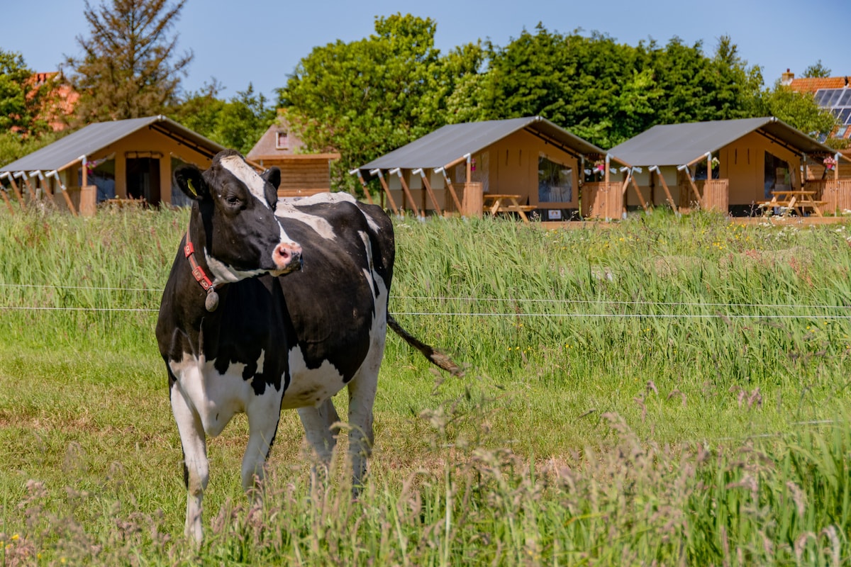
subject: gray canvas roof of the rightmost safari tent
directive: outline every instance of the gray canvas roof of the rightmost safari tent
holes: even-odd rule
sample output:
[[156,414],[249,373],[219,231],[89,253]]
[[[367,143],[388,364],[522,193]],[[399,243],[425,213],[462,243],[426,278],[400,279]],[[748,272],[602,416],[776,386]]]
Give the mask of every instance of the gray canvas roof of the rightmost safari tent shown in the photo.
[[654,126],[614,146],[608,153],[634,166],[681,166],[756,130],[793,150],[807,154],[834,153],[830,147],[773,116]]

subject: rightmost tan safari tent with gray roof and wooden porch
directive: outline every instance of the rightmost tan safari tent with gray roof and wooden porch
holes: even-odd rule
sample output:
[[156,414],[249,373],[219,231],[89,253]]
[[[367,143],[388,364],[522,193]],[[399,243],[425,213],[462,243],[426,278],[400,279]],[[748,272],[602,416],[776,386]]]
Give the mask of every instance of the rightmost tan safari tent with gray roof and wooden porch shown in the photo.
[[813,196],[808,213],[851,208],[851,179],[840,179],[835,150],[774,117],[654,126],[609,153],[631,164],[623,181],[640,198],[680,212],[696,206],[734,216],[761,214],[785,192]]

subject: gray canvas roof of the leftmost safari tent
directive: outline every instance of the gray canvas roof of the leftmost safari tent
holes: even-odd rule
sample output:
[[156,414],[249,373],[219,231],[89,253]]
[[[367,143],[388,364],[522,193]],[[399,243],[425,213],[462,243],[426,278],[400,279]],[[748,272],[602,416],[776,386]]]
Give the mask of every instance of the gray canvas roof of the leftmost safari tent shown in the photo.
[[146,118],[130,118],[113,122],[96,122],[89,124],[65,138],[44,146],[31,154],[0,167],[0,172],[18,171],[53,171],[77,162],[81,156],[92,156],[106,146],[123,139],[142,128],[151,128],[169,138],[177,139],[205,156],[214,156],[224,146],[204,138],[201,134],[192,132],[189,128],[180,126],[177,122],[165,116],[148,116]]

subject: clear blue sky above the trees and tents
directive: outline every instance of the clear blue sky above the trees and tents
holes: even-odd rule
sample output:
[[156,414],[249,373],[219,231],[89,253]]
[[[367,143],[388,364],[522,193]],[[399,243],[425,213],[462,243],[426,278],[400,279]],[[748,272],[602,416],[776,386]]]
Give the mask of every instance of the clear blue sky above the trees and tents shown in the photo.
[[[64,55],[78,54],[75,38],[89,33],[83,9],[83,0],[0,0],[0,49],[22,54],[35,71],[54,71]],[[188,0],[173,29],[180,50],[195,54],[184,88],[196,90],[215,77],[225,85],[225,97],[250,82],[274,100],[275,89],[311,48],[367,37],[376,15],[397,12],[437,21],[442,53],[477,39],[504,46],[542,22],[550,31],[602,31],[629,45],[649,38],[664,45],[674,36],[688,44],[702,40],[706,54],[726,34],[749,65],[762,66],[768,86],[786,68],[800,77],[818,60],[834,76],[851,75],[851,62],[842,55],[848,0]]]

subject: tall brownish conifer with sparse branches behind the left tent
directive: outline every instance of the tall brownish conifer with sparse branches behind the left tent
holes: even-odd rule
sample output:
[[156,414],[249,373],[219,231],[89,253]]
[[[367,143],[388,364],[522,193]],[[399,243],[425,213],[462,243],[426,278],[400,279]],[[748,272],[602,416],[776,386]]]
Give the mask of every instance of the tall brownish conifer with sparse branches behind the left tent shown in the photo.
[[77,36],[79,59],[66,57],[80,122],[156,115],[177,101],[193,55],[176,54],[178,35],[168,37],[186,0],[167,2],[111,0],[93,8],[86,0],[90,37]]

